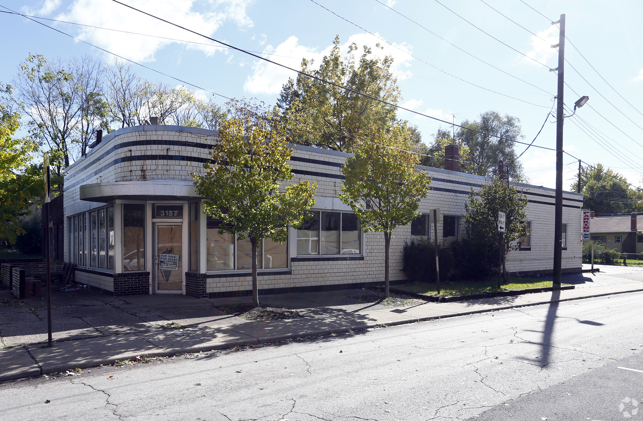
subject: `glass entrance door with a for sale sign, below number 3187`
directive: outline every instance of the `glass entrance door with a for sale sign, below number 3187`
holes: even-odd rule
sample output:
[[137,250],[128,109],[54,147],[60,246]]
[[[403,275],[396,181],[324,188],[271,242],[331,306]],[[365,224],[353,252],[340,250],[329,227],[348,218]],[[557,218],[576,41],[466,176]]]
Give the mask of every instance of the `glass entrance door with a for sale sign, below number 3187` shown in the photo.
[[182,292],[181,224],[156,224],[156,292]]

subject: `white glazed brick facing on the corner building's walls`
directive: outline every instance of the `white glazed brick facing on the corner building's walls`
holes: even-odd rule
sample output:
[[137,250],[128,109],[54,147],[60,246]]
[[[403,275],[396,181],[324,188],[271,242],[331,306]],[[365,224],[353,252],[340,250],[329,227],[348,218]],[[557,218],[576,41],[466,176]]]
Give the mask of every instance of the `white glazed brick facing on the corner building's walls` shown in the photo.
[[[156,128],[156,130],[152,130]],[[91,167],[83,169],[80,173],[79,169],[85,167],[89,162],[92,162],[98,156],[108,151],[116,144],[123,142],[131,142],[135,140],[182,140],[185,142],[198,142],[212,144],[217,139],[217,136],[210,134],[189,133],[188,131],[178,131],[176,126],[146,126],[145,131],[131,131],[130,133],[116,133],[113,138],[104,140],[102,144],[98,145],[91,154],[87,155],[82,160],[79,160],[71,167],[68,168],[68,178],[65,180],[66,186],[77,183],[89,174],[94,173],[100,167],[113,162],[117,158],[125,158],[131,155],[141,154],[169,154],[169,155],[182,155],[194,156],[198,158],[209,158],[208,149],[192,146],[177,146],[177,145],[132,145],[116,149],[100,159],[100,161],[91,165]],[[187,129],[187,128],[183,128]],[[167,149],[169,148],[169,149]],[[306,158],[310,160],[320,160],[324,162],[334,162],[343,164],[348,154],[333,153],[324,149],[311,148],[311,147],[295,147],[293,156],[298,158]],[[71,207],[78,203],[78,192],[80,185],[97,183],[97,182],[118,182],[125,180],[142,180],[143,171],[145,172],[145,182],[154,183],[154,178],[164,179],[181,179],[192,180],[191,171],[203,171],[201,163],[191,162],[190,166],[186,166],[185,161],[136,161],[136,162],[121,162],[114,164],[105,169],[100,174],[95,174],[91,178],[77,183],[71,189],[66,188],[64,205],[65,208]],[[330,173],[341,174],[340,167],[332,167],[328,165],[310,164],[307,162],[291,161],[293,169],[300,171],[312,171],[316,173]],[[426,168],[429,174],[434,179],[431,182],[431,187],[438,189],[457,190],[461,192],[469,192],[471,187],[466,183],[484,184],[489,183],[490,180],[485,180],[470,174],[455,173],[451,171],[436,170]],[[72,175],[73,174],[73,175]],[[460,182],[464,184],[444,182],[436,180],[438,178]],[[338,197],[338,191],[341,189],[341,180],[338,178],[326,178],[309,176],[302,174],[294,174],[291,183],[297,183],[302,180],[309,182],[317,182],[318,187],[316,196],[322,197]],[[474,188],[478,191],[478,187]],[[527,195],[529,200],[545,201],[554,203],[554,191],[552,189],[539,189],[537,186],[519,187],[528,192],[535,192],[543,194],[547,197]],[[564,192],[563,197],[567,200],[564,201],[565,205],[573,205],[575,208],[563,207],[563,221],[567,225],[567,250],[563,250],[563,269],[565,268],[580,268],[581,267],[581,214],[580,202],[569,201],[569,199],[578,199],[579,196]],[[469,200],[468,194],[459,194],[453,192],[444,192],[431,190],[428,196],[421,200],[419,212],[429,213],[431,209],[439,207],[442,214],[451,215],[464,215],[465,204]],[[95,207],[102,205],[96,203]],[[507,256],[507,269],[511,272],[523,271],[538,271],[548,270],[553,263],[553,238],[554,238],[554,206],[545,205],[541,203],[528,203],[527,216],[532,221],[532,237],[531,237],[531,250],[530,251],[514,251]],[[67,213],[67,212],[66,212]],[[69,216],[67,214],[66,216]],[[431,224],[431,232],[433,224]],[[438,232],[442,230],[442,224],[438,224]],[[67,233],[67,229],[65,229]],[[460,218],[460,234],[464,233],[464,218]],[[404,273],[401,271],[402,263],[402,247],[405,241],[410,241],[410,226],[398,227],[393,232],[394,238],[391,243],[390,250],[390,279],[405,279]],[[371,281],[383,281],[384,279],[384,240],[381,233],[369,233],[365,236],[365,260],[363,261],[300,261],[291,263],[291,275],[280,276],[264,276],[259,277],[259,285],[261,288],[284,288],[291,286],[314,286],[314,285],[333,285],[341,283],[359,283]],[[439,237],[440,239],[440,237]],[[67,251],[67,250],[66,250]],[[93,275],[87,275],[87,281],[90,282]],[[94,279],[94,278],[92,278]],[[98,281],[95,281],[98,282]],[[100,281],[104,284],[105,280]],[[208,279],[207,292],[222,292],[231,290],[248,289],[251,285],[249,277],[227,277],[227,278],[214,278]],[[98,285],[96,285],[98,286]],[[101,286],[101,288],[103,288]],[[111,290],[111,288],[105,288]]]

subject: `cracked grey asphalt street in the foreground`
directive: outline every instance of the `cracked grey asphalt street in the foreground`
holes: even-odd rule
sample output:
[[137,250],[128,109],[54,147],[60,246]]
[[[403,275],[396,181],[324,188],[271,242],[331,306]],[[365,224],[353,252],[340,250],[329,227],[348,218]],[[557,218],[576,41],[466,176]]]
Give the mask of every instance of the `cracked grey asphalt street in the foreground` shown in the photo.
[[610,295],[8,382],[0,386],[0,414],[38,421],[640,420],[642,304],[643,293]]

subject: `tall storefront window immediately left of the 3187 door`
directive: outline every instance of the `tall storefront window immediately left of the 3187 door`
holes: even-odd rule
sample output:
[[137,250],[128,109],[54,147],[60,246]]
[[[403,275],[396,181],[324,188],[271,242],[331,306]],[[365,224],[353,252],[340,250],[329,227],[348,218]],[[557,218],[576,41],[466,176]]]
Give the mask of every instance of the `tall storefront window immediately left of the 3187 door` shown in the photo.
[[145,205],[123,204],[123,272],[145,270]]

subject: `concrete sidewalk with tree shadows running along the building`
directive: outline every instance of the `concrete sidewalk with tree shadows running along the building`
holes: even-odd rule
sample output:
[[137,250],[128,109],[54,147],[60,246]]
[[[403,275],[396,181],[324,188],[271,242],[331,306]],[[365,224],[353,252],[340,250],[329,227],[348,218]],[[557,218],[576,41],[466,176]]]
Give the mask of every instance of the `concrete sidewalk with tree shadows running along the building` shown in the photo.
[[[609,270],[606,267],[601,270]],[[618,268],[618,267],[617,267]],[[643,291],[643,269],[615,269],[611,275],[566,276],[577,289],[460,301],[400,306],[377,303],[377,292],[343,290],[305,294],[262,295],[260,301],[289,308],[298,317],[248,321],[226,314],[226,306],[249,303],[249,297],[194,299],[185,295],[112,297],[83,290],[53,292],[53,339],[44,348],[44,300],[18,303],[0,291],[0,380],[112,364],[137,355],[168,356],[282,341],[297,337],[363,330],[376,326],[554,303],[571,299]],[[624,268],[627,269],[627,268]],[[578,288],[583,285],[597,285]],[[12,305],[15,304],[15,305]],[[180,327],[177,327],[179,326]]]

